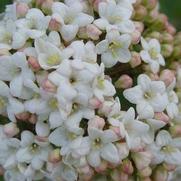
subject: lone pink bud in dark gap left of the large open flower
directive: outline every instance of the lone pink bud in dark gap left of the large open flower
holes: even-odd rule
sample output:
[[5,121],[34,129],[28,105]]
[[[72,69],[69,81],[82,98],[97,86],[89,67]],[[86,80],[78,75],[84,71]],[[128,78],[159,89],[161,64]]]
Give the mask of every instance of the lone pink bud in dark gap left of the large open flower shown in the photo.
[[115,87],[118,89],[127,89],[133,85],[133,79],[129,75],[121,75],[121,77],[115,82]]

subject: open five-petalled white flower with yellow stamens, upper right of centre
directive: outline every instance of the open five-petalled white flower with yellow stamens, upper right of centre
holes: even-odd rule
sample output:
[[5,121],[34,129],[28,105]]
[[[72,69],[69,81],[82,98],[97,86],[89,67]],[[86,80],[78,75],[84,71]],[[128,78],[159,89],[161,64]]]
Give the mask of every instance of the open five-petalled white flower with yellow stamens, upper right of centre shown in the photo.
[[131,60],[130,44],[130,35],[120,35],[119,32],[111,30],[106,39],[96,45],[96,51],[101,54],[105,67],[113,67],[117,62],[127,63]]

